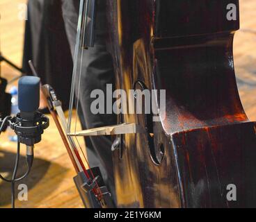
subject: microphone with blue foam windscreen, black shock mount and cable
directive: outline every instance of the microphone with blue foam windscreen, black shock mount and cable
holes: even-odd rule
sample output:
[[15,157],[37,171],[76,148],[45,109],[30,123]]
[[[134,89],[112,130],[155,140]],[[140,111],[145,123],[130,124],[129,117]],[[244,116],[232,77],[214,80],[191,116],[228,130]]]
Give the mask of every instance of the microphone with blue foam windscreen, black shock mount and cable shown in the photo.
[[[4,128],[10,126],[17,134],[17,157],[15,169],[11,180],[0,178],[12,185],[12,206],[15,206],[15,182],[26,178],[31,171],[33,164],[33,148],[42,139],[42,133],[49,127],[49,118],[38,112],[40,100],[40,78],[34,76],[24,76],[19,79],[18,83],[18,107],[20,112],[16,117],[7,116],[0,119],[0,134]],[[16,178],[17,168],[19,165],[19,145],[26,145],[26,162],[28,169],[24,176]]]

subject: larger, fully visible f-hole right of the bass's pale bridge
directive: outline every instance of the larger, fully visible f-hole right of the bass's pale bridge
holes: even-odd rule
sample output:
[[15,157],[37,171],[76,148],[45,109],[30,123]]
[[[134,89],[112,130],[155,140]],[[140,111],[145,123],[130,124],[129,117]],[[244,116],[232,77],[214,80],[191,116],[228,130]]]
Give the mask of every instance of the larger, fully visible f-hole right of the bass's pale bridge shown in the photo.
[[[145,83],[143,83],[141,80],[138,80],[134,83],[134,91],[136,92],[136,89],[140,89],[142,92],[143,90],[147,89]],[[151,95],[152,96],[152,95]],[[155,146],[155,134],[154,134],[154,121],[153,121],[153,112],[152,112],[152,103],[151,103],[151,96],[150,96],[150,113],[145,114],[145,109],[143,110],[143,114],[145,116],[145,131],[147,135],[147,144],[150,151],[150,157],[154,164],[161,164],[161,161],[163,160],[163,154],[164,154],[164,147],[163,144],[157,144]],[[136,94],[134,95],[136,99]],[[149,102],[149,101],[146,101]],[[145,104],[145,96],[143,96],[142,103]],[[157,155],[159,153],[159,155]]]

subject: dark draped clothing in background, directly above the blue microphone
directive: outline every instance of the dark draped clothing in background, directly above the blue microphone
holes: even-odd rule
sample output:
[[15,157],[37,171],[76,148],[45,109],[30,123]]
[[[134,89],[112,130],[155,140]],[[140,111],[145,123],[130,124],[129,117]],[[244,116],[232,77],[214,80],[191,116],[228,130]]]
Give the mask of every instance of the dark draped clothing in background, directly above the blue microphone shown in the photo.
[[67,110],[73,62],[61,0],[29,0],[23,57],[23,69],[27,74],[31,74],[29,60],[33,61],[42,84],[54,87],[63,109]]

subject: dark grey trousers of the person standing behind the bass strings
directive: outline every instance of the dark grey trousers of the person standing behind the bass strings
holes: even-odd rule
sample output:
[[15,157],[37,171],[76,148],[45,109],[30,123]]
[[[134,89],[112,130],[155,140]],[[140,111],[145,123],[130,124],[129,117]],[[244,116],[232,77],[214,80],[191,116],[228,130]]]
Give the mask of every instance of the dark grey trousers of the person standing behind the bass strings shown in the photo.
[[[77,21],[79,15],[79,0],[62,0],[63,18],[67,37],[70,41],[72,56],[77,36]],[[83,53],[83,72],[79,91],[79,116],[83,129],[99,126],[111,126],[116,123],[113,114],[93,114],[90,98],[93,89],[102,89],[106,94],[106,84],[114,86],[113,62],[106,51],[106,1],[97,1],[97,15],[95,25],[95,46]],[[76,83],[79,87],[79,83]],[[113,87],[114,88],[114,87]],[[76,95],[78,96],[78,95]],[[86,139],[88,161],[91,167],[100,167],[104,180],[107,181],[111,193],[115,197],[113,179],[113,165],[111,157],[110,137],[89,137]]]

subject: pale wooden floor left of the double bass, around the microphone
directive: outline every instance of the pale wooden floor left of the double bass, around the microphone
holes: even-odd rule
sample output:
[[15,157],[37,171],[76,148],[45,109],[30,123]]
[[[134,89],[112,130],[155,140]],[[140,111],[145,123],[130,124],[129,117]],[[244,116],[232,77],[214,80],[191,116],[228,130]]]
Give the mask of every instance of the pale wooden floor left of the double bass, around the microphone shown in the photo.
[[[26,0],[0,0],[1,52],[9,60],[21,66],[24,41],[24,21],[18,19],[19,3]],[[8,65],[2,64],[2,76],[9,80],[17,76]],[[16,84],[16,83],[15,83]],[[61,137],[50,119],[51,125],[45,131],[42,142],[35,146],[35,160],[29,178],[19,183],[29,187],[29,200],[16,200],[16,207],[83,207],[72,178],[75,171],[61,142]],[[10,172],[15,161],[16,145],[8,142],[8,134],[0,138],[0,173]],[[24,148],[22,148],[24,151]],[[21,172],[24,172],[24,152]],[[8,176],[8,173],[3,173]],[[0,207],[10,207],[10,185],[0,180]]]

